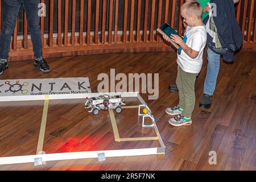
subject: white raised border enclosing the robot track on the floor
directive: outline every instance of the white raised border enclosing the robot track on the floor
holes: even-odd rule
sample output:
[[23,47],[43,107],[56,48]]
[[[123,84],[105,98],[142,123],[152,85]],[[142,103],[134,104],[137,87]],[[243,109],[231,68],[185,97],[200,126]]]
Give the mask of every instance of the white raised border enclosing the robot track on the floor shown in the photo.
[[[63,100],[63,99],[86,99],[86,97],[97,97],[104,94],[109,96],[121,95],[122,97],[137,97],[142,104],[147,105],[138,92],[122,92],[122,93],[84,93],[84,94],[56,94],[49,95],[49,100]],[[38,101],[45,100],[45,95],[37,96],[4,96],[0,97],[0,102],[10,101]],[[43,162],[53,160],[71,160],[71,159],[88,159],[99,158],[99,154],[104,153],[105,158],[121,157],[121,156],[139,156],[139,155],[154,155],[165,154],[166,147],[160,137],[158,128],[154,125],[156,134],[158,135],[161,147],[154,148],[134,148],[127,150],[103,150],[103,151],[83,151],[83,152],[65,152],[55,154],[40,154],[40,155],[24,155],[24,156],[9,156],[0,158],[0,165],[3,164],[20,164],[20,163],[34,163],[41,165]]]

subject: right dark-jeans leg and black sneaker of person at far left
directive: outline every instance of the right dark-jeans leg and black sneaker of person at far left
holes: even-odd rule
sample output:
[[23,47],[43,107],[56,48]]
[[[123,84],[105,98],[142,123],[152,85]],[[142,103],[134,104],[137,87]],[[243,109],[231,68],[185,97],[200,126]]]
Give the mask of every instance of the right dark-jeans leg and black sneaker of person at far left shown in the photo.
[[42,56],[42,36],[40,31],[40,0],[24,0],[24,9],[27,15],[28,29],[30,30],[31,40],[34,50],[34,66],[41,72],[49,72],[51,69]]

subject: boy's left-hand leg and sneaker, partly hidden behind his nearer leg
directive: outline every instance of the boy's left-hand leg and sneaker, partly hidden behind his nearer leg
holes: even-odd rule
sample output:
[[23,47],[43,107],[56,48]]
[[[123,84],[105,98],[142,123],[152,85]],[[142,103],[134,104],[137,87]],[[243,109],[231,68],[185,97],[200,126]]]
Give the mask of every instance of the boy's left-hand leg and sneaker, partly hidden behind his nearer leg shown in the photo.
[[179,86],[179,105],[174,107],[168,107],[166,109],[166,113],[169,115],[179,115],[183,112],[183,108],[185,105],[185,97],[183,95],[182,89],[182,82],[181,82],[181,75],[180,75],[181,68],[178,67],[177,77],[176,77],[176,84]]

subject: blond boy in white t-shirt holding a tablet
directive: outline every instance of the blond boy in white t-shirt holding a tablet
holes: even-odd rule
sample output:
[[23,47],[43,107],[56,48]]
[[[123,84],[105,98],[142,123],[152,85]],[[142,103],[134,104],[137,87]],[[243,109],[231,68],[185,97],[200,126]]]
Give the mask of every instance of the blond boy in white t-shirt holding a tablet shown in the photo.
[[[178,35],[171,35],[171,40],[179,44],[177,51],[177,78],[179,89],[179,105],[169,107],[166,113],[176,115],[169,123],[173,126],[191,125],[191,115],[195,107],[196,76],[203,65],[203,52],[207,41],[207,32],[201,20],[203,9],[199,2],[190,1],[181,7],[183,22],[187,24],[184,39]],[[168,41],[167,36],[163,38]]]

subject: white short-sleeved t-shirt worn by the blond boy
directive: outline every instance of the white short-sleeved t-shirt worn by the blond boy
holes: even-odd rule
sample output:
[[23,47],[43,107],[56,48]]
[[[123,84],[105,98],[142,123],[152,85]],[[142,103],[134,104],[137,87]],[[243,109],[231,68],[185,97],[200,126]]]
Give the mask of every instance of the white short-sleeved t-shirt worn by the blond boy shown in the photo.
[[177,54],[177,64],[185,72],[199,73],[203,65],[203,53],[207,43],[207,31],[205,26],[188,26],[185,35],[187,36],[187,46],[195,51],[199,51],[199,55],[195,59],[192,59],[182,50],[180,55]]

